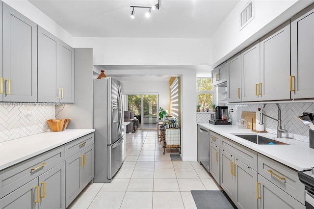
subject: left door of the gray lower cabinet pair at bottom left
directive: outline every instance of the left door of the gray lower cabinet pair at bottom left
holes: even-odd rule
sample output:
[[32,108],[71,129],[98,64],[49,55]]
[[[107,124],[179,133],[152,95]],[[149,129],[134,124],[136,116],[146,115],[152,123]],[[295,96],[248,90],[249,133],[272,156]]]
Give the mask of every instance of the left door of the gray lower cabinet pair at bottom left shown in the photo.
[[0,199],[1,209],[39,209],[40,201],[38,178],[26,183]]

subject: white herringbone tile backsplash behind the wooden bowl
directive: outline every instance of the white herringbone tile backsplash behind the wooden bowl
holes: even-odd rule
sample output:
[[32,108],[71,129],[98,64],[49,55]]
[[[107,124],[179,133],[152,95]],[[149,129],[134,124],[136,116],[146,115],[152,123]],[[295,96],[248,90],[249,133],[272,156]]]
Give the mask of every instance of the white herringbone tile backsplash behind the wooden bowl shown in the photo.
[[0,142],[42,133],[55,119],[54,105],[0,103]]

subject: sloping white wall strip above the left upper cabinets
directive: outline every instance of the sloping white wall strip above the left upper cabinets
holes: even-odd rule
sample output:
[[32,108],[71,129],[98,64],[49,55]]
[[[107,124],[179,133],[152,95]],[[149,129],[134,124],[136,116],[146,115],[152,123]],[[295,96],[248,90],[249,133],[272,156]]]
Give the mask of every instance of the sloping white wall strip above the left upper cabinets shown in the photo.
[[51,18],[45,15],[37,7],[31,4],[28,0],[2,0],[28,19],[39,26],[51,32],[53,35],[73,47],[73,36],[57,25]]

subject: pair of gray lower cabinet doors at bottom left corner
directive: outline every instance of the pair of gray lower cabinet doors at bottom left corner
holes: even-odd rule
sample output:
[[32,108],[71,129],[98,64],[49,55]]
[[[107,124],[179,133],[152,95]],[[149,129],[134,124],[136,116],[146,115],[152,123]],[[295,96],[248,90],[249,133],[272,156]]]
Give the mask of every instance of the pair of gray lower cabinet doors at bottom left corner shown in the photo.
[[0,199],[0,208],[64,209],[64,162]]

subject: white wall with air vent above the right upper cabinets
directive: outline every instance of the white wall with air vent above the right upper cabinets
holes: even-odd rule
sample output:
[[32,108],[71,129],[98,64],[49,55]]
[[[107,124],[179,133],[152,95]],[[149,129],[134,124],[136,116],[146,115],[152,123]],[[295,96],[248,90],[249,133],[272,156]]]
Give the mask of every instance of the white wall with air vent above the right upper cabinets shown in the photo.
[[255,0],[254,19],[240,30],[240,11],[248,0],[240,0],[211,37],[212,64],[218,65],[289,20],[313,0]]

